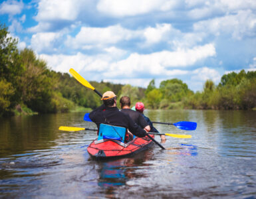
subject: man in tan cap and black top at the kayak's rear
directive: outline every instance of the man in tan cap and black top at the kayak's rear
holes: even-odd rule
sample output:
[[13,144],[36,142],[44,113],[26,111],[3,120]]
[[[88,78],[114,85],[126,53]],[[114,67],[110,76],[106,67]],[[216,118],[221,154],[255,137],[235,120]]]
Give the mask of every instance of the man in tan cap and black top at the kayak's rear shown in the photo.
[[[145,137],[147,135],[147,132],[137,125],[128,114],[118,110],[118,107],[116,107],[116,94],[114,92],[105,92],[101,100],[103,104],[89,114],[90,119],[96,123],[98,129],[100,128],[100,123],[104,123],[125,127],[137,137]],[[126,141],[131,139],[133,139],[133,135],[126,131]]]

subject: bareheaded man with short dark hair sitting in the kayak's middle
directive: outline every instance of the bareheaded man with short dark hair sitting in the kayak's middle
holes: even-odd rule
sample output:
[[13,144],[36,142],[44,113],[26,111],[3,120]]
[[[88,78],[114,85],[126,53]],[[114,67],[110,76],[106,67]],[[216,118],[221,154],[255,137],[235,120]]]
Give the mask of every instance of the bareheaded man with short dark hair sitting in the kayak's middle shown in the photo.
[[128,96],[122,96],[122,98],[120,98],[121,111],[123,113],[127,113],[132,118],[132,120],[135,121],[135,123],[137,123],[140,127],[142,127],[142,129],[149,132],[150,125],[148,125],[148,122],[146,121],[146,119],[139,112],[130,109],[130,105],[131,105],[131,101]]

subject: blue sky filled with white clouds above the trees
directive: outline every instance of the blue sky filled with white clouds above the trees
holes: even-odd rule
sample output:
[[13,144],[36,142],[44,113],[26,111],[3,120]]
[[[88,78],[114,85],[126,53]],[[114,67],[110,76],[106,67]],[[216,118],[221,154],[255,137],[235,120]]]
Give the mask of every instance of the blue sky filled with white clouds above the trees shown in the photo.
[[255,0],[0,0],[0,23],[20,50],[88,81],[178,78],[195,92],[256,70]]

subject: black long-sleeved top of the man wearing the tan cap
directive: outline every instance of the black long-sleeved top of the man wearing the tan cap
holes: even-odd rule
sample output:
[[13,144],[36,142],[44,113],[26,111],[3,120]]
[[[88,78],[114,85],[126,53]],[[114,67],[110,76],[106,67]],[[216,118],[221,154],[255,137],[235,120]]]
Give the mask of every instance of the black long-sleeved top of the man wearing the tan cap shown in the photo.
[[118,127],[125,127],[137,137],[146,136],[146,131],[137,125],[128,114],[119,111],[117,107],[106,107],[103,104],[90,112],[89,117],[96,123],[98,129],[100,123],[105,123]]

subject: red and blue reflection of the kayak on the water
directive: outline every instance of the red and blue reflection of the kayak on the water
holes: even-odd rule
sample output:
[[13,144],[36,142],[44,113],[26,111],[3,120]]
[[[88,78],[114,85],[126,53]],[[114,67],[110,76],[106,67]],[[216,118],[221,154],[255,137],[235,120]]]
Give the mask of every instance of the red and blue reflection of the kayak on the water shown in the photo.
[[152,155],[151,151],[144,151],[134,157],[102,162],[98,170],[98,186],[106,188],[106,194],[110,194],[114,187],[125,185],[132,178],[145,177],[146,172],[138,174],[136,170],[142,165],[149,166],[145,161],[150,160]]

